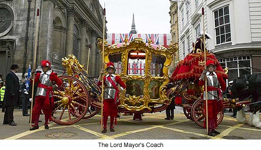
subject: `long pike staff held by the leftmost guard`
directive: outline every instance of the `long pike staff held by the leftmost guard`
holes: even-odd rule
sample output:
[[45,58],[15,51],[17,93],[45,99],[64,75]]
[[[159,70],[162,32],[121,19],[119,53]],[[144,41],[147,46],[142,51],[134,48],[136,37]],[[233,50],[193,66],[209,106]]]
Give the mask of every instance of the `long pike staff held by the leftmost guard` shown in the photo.
[[[36,51],[37,51],[37,41],[38,41],[38,26],[39,26],[39,14],[40,9],[37,8],[37,15],[36,15],[36,32],[35,32],[35,40],[34,40],[34,57],[33,57],[33,69],[36,68]],[[32,124],[32,109],[33,109],[33,93],[34,93],[34,74],[33,77],[33,83],[32,83],[32,101],[31,101],[31,109],[30,109],[30,127]]]

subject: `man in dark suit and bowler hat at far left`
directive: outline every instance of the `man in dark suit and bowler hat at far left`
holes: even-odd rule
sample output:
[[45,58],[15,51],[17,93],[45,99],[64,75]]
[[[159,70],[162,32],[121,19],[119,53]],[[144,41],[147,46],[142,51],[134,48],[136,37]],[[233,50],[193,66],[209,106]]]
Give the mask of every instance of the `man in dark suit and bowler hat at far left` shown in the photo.
[[3,105],[5,106],[5,113],[3,124],[16,126],[13,121],[13,109],[19,102],[19,78],[15,75],[18,72],[18,65],[12,64],[11,71],[6,75],[5,92],[3,97]]

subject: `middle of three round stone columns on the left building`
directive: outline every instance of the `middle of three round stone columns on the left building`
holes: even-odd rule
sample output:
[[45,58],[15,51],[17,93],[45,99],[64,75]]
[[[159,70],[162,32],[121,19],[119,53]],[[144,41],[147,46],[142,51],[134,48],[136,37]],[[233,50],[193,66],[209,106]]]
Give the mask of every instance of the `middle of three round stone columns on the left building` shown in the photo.
[[[87,51],[86,51],[86,28],[87,28],[87,21],[86,20],[81,20],[80,22],[81,26],[81,44],[80,44],[80,64],[85,64],[87,61]],[[86,68],[87,64],[85,64]]]

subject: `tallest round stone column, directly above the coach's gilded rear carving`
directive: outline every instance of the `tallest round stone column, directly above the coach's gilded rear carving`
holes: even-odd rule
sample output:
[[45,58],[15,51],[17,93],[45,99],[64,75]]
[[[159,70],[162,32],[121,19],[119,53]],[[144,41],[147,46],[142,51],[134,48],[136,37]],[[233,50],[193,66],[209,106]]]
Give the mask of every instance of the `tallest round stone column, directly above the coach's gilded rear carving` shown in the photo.
[[67,34],[66,34],[66,53],[65,56],[68,57],[69,54],[73,54],[73,44],[74,44],[74,17],[75,8],[70,7],[67,9]]

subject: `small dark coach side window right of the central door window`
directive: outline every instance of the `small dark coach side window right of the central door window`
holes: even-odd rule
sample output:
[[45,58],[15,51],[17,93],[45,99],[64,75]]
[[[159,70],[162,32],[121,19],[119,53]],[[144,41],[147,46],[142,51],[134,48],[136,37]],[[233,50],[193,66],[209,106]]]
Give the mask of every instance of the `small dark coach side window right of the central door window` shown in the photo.
[[165,57],[152,55],[151,76],[163,76],[163,66],[166,61]]

